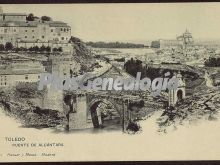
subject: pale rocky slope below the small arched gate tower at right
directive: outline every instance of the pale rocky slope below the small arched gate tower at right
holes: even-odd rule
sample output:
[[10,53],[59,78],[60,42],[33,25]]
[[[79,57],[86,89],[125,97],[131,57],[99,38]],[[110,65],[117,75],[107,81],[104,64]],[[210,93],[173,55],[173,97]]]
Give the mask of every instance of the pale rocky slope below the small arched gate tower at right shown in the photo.
[[220,111],[220,88],[203,88],[166,109],[157,120],[160,132],[177,129],[179,125],[195,124],[202,120],[217,120]]

